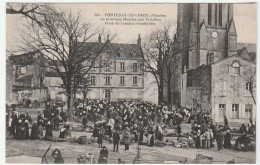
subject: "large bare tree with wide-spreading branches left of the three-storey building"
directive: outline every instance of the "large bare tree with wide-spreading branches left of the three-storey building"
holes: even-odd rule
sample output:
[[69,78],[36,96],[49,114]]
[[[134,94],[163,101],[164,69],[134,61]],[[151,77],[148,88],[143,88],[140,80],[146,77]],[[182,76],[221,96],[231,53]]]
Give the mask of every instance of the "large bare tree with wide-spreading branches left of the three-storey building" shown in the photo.
[[[22,35],[25,46],[21,50],[41,52],[51,64],[48,67],[57,72],[66,91],[68,116],[72,119],[73,89],[77,88],[74,80],[78,75],[88,74],[108,42],[101,44],[94,40],[100,30],[82,21],[80,13],[54,10],[43,18],[41,24],[28,21],[25,25],[27,29]],[[87,65],[83,65],[86,61]]]

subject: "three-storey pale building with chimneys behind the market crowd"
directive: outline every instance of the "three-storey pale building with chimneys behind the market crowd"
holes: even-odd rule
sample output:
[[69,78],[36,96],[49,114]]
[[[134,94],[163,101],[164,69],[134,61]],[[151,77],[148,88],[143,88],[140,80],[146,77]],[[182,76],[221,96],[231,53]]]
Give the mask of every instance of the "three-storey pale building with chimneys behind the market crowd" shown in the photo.
[[[85,44],[88,46],[93,43]],[[110,101],[143,99],[144,65],[141,58],[140,35],[137,44],[111,43],[109,38],[102,43],[99,36],[97,45],[104,44],[106,48],[86,75],[90,82],[87,98]],[[83,65],[89,65],[88,61]]]

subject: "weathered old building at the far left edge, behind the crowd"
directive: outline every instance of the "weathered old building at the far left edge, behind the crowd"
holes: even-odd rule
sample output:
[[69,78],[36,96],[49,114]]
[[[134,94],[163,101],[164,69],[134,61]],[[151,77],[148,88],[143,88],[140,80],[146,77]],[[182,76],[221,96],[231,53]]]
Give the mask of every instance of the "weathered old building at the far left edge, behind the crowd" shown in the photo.
[[[44,86],[44,56],[38,52],[11,55],[9,57],[8,83],[12,84],[13,102],[44,102],[47,100],[47,88]],[[12,72],[12,73],[10,73]],[[8,98],[8,96],[7,96]]]

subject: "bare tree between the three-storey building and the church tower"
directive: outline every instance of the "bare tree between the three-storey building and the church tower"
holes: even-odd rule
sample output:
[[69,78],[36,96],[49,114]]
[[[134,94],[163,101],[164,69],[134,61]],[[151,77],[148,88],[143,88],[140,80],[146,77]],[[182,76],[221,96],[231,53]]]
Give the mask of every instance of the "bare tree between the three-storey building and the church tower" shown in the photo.
[[[143,45],[143,60],[145,71],[155,78],[158,89],[158,103],[172,104],[174,93],[174,78],[177,78],[178,53],[182,52],[180,40],[177,40],[175,26],[166,23],[162,28],[153,31]],[[166,98],[164,98],[166,96]]]

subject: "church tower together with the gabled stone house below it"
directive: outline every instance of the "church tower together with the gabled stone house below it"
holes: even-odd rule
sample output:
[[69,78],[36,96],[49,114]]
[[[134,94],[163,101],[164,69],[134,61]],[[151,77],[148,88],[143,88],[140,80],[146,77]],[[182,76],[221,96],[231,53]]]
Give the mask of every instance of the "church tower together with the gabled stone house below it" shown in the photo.
[[255,121],[256,53],[237,50],[233,4],[179,4],[177,37],[183,51],[174,103],[214,122]]

